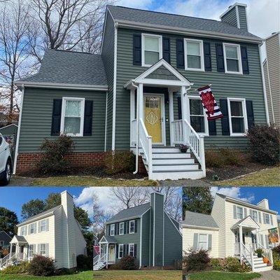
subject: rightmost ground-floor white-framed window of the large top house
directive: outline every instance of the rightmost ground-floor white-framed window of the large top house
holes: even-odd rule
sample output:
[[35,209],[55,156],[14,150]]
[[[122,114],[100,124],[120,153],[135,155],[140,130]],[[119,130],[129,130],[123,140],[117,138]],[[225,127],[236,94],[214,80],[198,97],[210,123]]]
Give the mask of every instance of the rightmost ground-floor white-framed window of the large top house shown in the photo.
[[248,130],[245,99],[228,98],[228,115],[230,117],[230,135],[244,136]]

